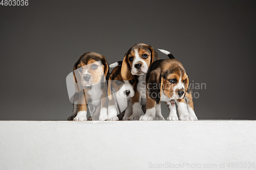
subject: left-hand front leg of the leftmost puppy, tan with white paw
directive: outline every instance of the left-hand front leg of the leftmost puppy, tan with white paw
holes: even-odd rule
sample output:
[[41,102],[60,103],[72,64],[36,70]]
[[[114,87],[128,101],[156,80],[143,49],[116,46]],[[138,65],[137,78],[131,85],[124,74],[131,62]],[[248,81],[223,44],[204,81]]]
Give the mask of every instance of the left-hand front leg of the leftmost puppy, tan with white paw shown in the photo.
[[86,102],[86,95],[84,90],[79,92],[79,99],[77,105],[77,115],[73,119],[76,121],[86,121],[87,120],[87,102]]

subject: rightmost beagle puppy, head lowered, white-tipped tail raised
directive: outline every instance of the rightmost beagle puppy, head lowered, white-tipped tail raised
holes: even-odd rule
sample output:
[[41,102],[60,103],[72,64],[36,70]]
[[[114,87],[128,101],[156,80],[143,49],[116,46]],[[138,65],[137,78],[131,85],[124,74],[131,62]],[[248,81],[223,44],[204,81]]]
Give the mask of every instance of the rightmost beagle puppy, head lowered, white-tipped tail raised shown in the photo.
[[180,120],[197,120],[192,91],[188,89],[189,80],[183,65],[169,52],[160,51],[168,55],[170,59],[157,60],[148,69],[146,113],[140,117],[140,120],[153,120],[155,116],[159,116],[161,113],[157,112],[157,107],[160,107],[160,101],[168,106],[167,120],[178,120],[175,102],[178,106]]

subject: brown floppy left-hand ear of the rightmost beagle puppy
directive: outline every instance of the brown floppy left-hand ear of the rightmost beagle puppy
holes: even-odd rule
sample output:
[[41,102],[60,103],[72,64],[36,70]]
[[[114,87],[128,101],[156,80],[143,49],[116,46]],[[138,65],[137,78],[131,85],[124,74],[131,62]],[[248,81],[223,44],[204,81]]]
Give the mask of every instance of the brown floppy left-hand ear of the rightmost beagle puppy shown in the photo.
[[161,91],[163,86],[163,77],[161,70],[155,69],[150,74],[150,79],[146,83],[147,93],[151,99],[156,101],[157,104],[161,101]]

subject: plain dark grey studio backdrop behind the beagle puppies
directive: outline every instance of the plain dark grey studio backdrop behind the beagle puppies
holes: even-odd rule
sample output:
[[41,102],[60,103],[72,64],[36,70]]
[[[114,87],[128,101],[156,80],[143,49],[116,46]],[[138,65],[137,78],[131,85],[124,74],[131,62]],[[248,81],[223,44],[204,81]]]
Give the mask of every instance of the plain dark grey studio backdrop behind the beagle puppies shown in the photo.
[[[0,6],[0,119],[66,120],[72,113],[66,77],[78,58],[94,51],[111,64],[140,42],[172,52],[190,83],[206,84],[193,90],[199,119],[256,119],[255,17],[255,1]],[[166,118],[164,103],[162,113]]]

